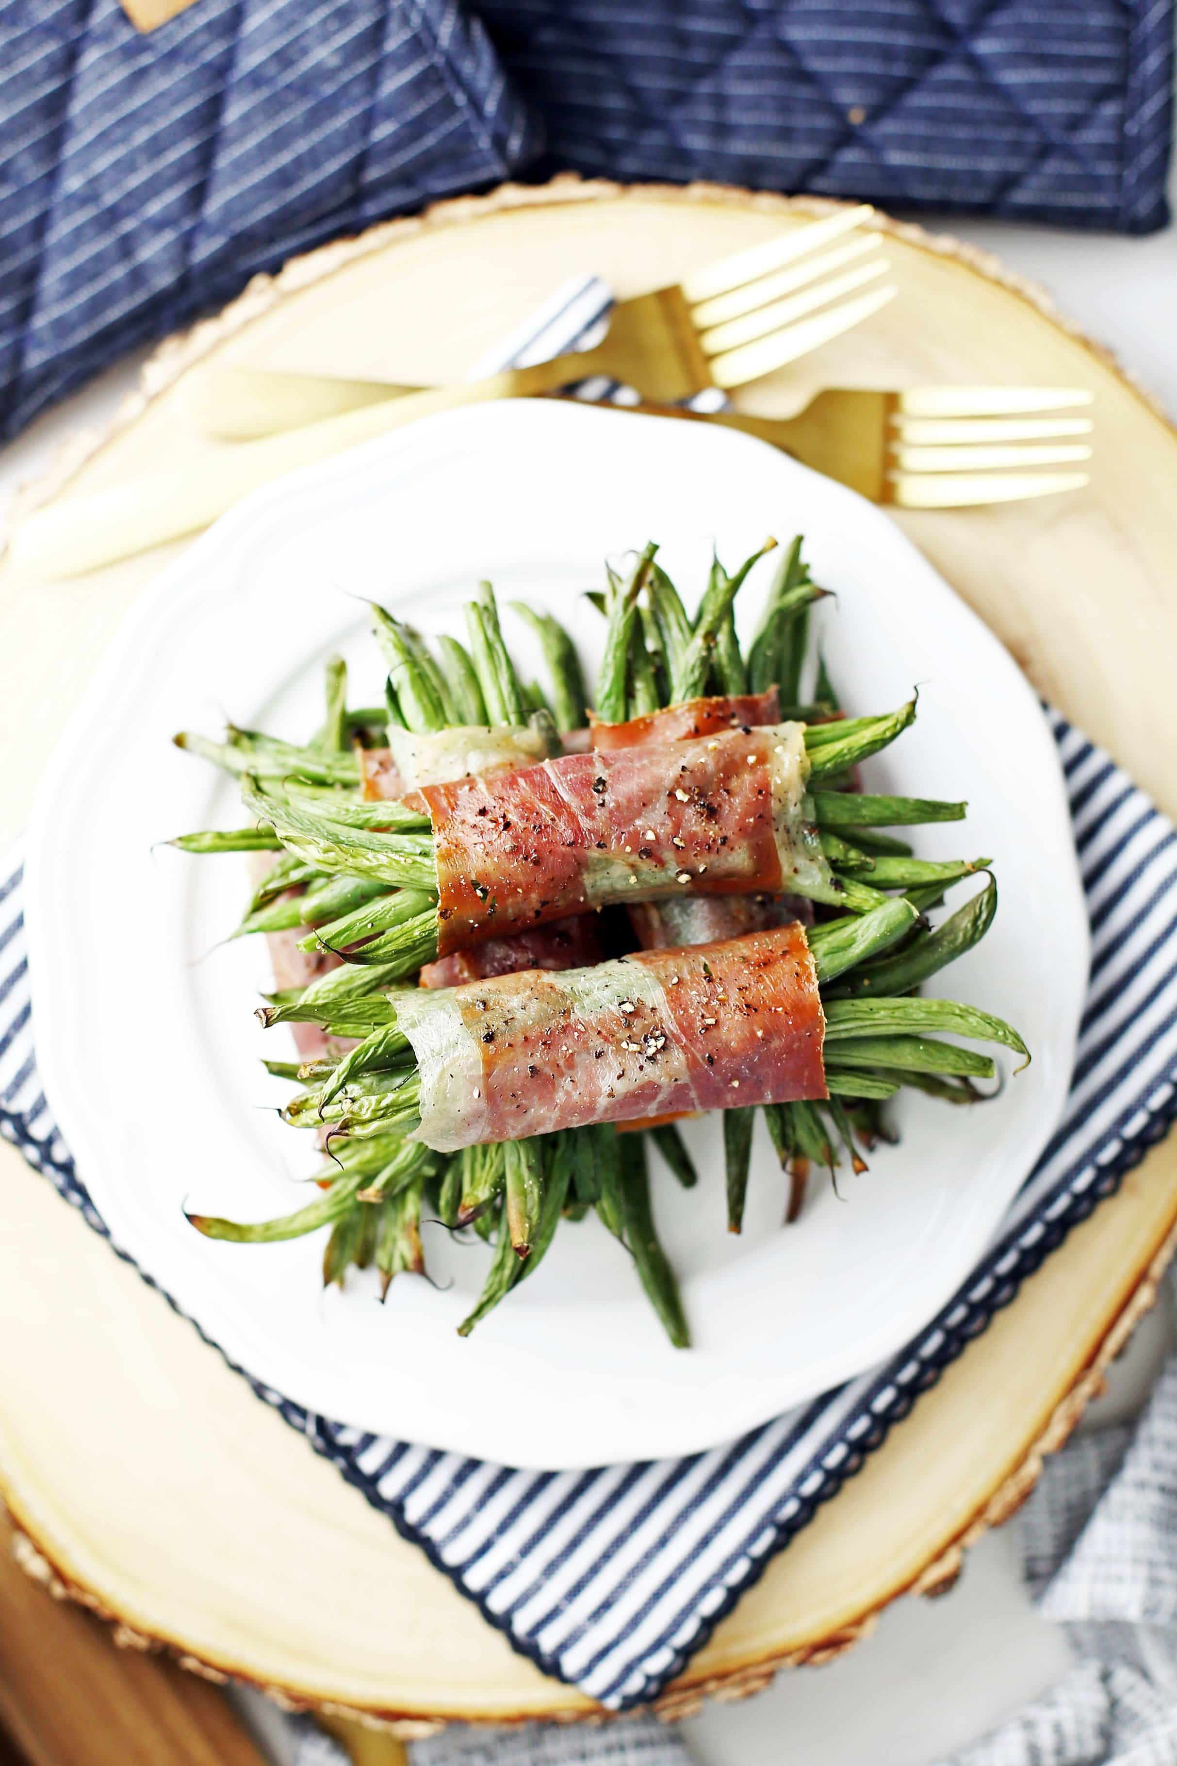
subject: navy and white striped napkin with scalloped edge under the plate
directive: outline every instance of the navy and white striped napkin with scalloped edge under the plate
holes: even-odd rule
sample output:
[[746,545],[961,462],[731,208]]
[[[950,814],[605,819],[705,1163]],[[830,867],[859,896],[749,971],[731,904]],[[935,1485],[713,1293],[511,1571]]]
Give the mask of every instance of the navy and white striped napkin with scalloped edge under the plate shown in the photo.
[[[1106,754],[1057,715],[1052,728],[1094,936],[1075,1086],[995,1241],[900,1355],[709,1453],[582,1473],[376,1438],[251,1381],[515,1649],[614,1709],[683,1667],[1177,1116],[1177,834]],[[0,1132],[102,1233],[37,1081],[30,1005],[14,862],[0,885]]]

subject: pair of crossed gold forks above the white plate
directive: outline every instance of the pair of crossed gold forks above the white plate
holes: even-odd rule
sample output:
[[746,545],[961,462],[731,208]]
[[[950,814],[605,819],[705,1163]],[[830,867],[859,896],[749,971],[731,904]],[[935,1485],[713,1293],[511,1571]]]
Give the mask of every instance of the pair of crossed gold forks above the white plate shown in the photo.
[[[759,436],[877,503],[960,509],[1087,484],[1091,403],[1078,387],[828,389],[785,419],[688,410],[771,374],[861,325],[896,293],[868,205],[794,228],[679,284],[618,300],[589,350],[446,387],[192,367],[185,420],[231,443],[184,475],[58,498],[12,535],[12,556],[44,577],[72,576],[208,526],[245,494],[436,411],[556,394],[607,376],[633,389],[619,406]],[[1071,415],[1057,415],[1071,413]]]

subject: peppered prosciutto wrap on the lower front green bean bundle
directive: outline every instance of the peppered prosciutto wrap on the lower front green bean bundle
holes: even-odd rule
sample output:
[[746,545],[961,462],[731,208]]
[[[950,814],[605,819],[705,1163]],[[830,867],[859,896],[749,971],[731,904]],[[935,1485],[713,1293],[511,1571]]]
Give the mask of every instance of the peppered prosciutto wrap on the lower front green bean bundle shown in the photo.
[[438,1151],[596,1121],[824,1098],[805,932],[395,996]]

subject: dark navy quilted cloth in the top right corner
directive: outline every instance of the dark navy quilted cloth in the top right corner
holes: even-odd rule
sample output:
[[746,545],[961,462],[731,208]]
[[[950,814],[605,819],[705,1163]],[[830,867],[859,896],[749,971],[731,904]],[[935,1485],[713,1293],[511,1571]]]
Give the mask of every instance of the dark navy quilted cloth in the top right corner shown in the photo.
[[1165,219],[1158,0],[476,5],[552,166],[1126,233]]

